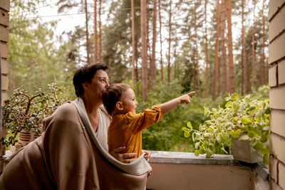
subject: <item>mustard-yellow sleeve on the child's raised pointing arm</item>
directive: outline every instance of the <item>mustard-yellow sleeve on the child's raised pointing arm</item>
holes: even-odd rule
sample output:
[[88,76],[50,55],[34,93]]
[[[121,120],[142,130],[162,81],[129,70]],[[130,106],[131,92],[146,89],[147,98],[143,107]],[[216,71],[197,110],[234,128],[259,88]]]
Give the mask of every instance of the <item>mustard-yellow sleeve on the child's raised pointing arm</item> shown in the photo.
[[130,123],[131,131],[140,132],[162,120],[163,115],[160,105],[154,105],[151,109],[145,109],[139,114],[128,112],[125,118]]

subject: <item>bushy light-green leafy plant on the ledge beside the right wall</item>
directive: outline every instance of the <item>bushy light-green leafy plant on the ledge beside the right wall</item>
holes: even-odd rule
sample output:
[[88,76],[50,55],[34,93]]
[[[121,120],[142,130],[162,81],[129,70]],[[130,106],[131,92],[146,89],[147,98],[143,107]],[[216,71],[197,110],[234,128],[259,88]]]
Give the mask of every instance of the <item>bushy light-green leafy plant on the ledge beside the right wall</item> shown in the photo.
[[[253,157],[259,154],[261,161],[263,160],[264,165],[268,166],[269,100],[257,100],[252,95],[240,99],[236,93],[229,95],[225,100],[224,108],[209,110],[204,107],[204,115],[209,120],[200,124],[199,130],[193,129],[191,122],[187,122],[187,127],[182,128],[185,137],[192,136],[195,142],[195,155],[206,154],[206,157],[210,157],[217,148],[229,154],[249,147],[246,151]],[[235,153],[233,155],[235,156]],[[243,157],[249,156],[235,156],[234,159],[259,162],[259,159],[244,160]]]

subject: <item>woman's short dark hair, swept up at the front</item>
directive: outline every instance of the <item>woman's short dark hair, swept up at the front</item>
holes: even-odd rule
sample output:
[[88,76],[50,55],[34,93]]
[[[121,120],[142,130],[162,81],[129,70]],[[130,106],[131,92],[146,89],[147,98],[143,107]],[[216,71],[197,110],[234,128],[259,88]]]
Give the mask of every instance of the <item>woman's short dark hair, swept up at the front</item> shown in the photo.
[[84,93],[83,83],[90,83],[97,70],[108,70],[108,67],[107,63],[92,63],[78,68],[73,75],[73,85],[77,97],[82,97]]

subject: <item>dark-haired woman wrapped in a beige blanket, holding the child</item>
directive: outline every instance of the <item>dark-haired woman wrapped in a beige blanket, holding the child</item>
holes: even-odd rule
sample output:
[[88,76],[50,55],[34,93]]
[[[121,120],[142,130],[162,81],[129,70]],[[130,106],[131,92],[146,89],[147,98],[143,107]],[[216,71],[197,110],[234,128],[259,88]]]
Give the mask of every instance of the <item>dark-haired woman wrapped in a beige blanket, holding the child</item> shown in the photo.
[[[110,118],[101,107],[108,65],[84,65],[74,77],[78,99],[43,120],[43,134],[12,156],[0,179],[5,189],[145,189],[150,165],[143,157],[108,154]],[[125,171],[125,172],[124,172]]]

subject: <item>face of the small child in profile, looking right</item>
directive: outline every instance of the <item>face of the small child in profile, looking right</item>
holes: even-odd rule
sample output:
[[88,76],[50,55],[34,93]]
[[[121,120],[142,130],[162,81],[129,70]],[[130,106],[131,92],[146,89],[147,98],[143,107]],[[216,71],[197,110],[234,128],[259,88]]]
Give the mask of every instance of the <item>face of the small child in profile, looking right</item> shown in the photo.
[[135,108],[137,107],[138,102],[135,100],[135,93],[133,89],[129,88],[125,91],[125,93],[123,93],[122,105],[124,114],[128,112],[135,113]]

